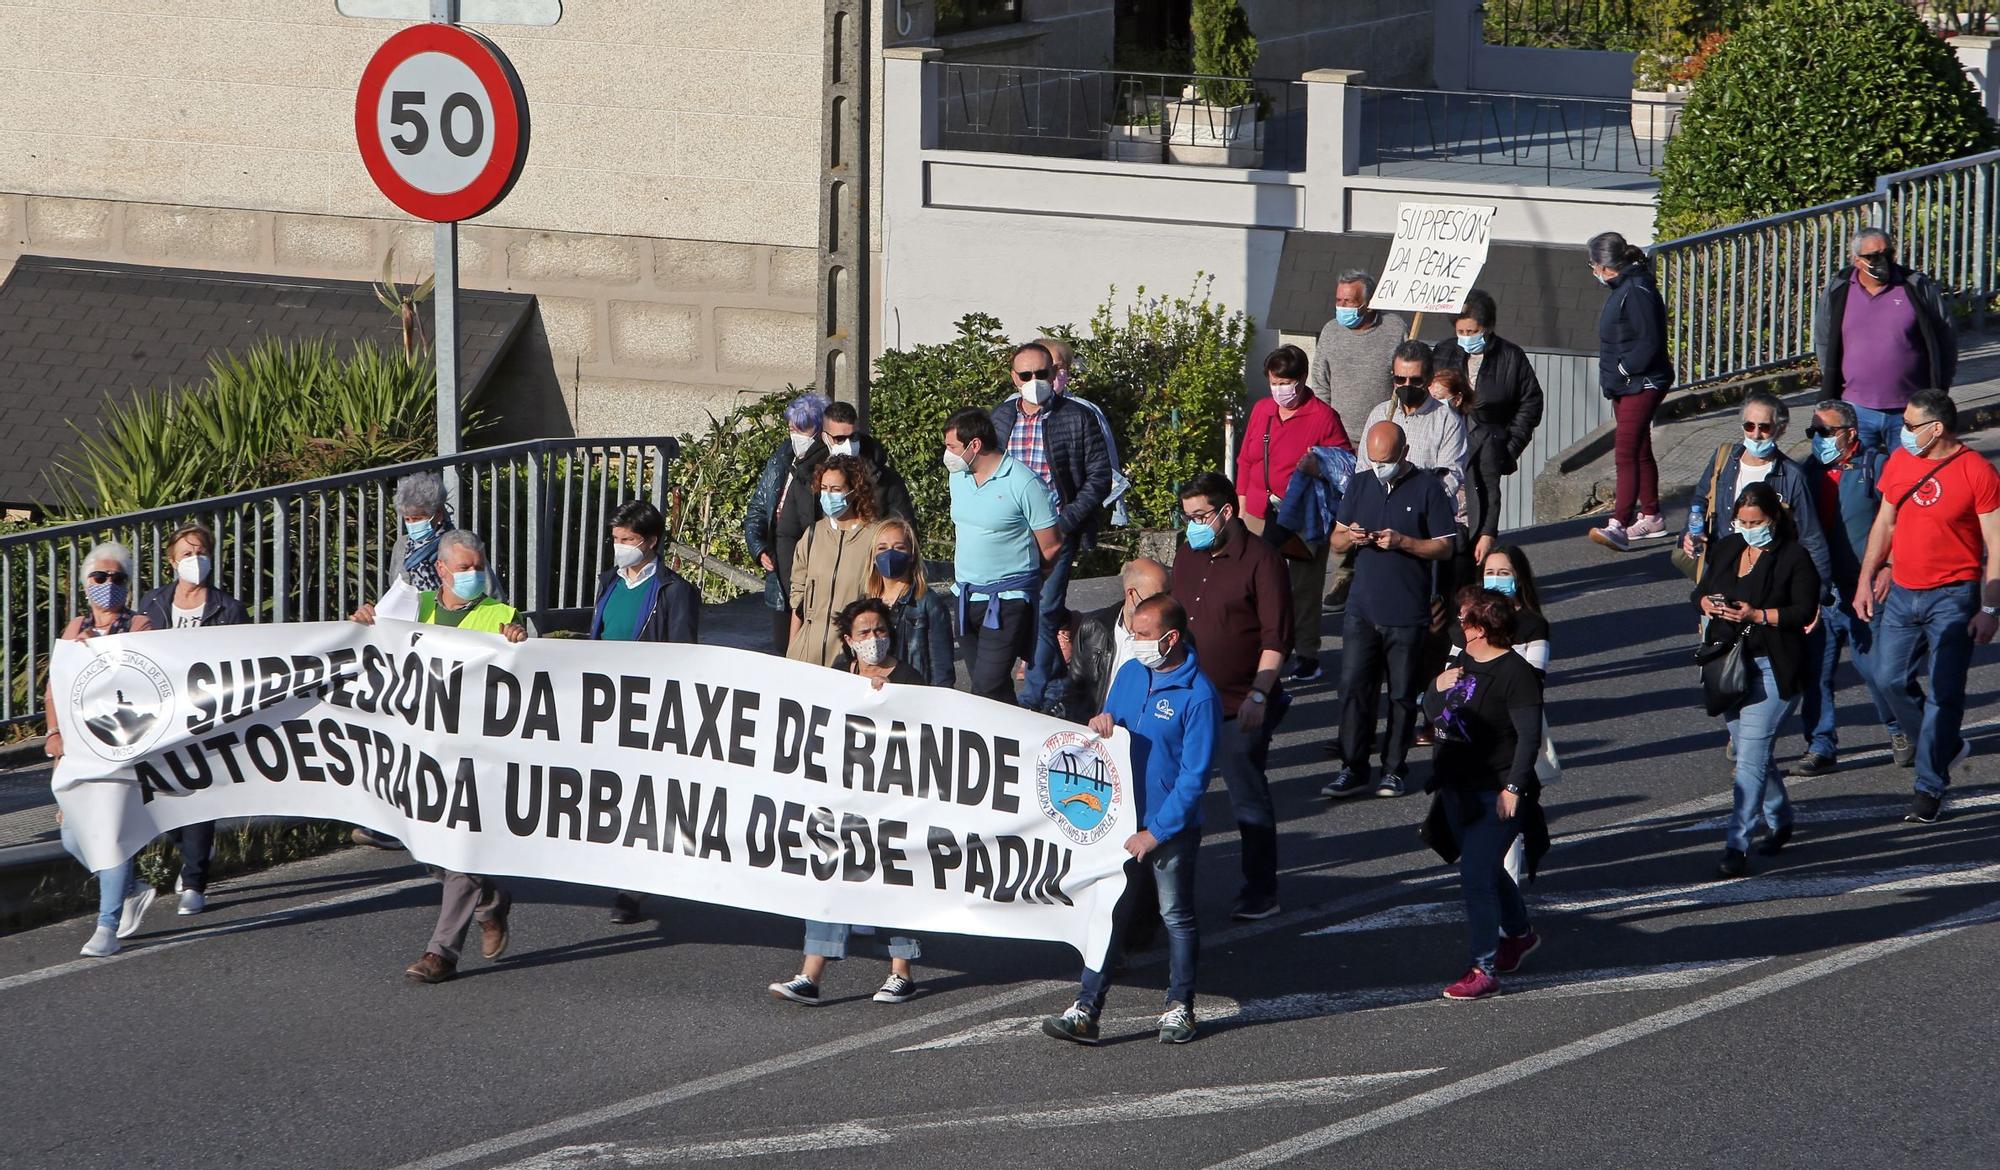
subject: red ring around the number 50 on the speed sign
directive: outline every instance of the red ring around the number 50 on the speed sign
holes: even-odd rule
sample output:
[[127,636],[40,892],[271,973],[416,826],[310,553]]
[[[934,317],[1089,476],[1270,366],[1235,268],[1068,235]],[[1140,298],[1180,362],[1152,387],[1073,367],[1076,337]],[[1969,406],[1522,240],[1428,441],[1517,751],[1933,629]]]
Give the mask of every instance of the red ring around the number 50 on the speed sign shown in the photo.
[[[422,52],[440,52],[472,70],[494,112],[492,154],[486,166],[472,182],[452,192],[428,192],[402,178],[376,126],[376,110],[390,74]],[[504,200],[528,162],[528,98],[506,54],[484,36],[454,24],[412,24],[382,42],[382,48],[368,58],[360,90],[354,94],[354,140],[360,144],[368,176],[392,204],[438,224],[470,220]]]

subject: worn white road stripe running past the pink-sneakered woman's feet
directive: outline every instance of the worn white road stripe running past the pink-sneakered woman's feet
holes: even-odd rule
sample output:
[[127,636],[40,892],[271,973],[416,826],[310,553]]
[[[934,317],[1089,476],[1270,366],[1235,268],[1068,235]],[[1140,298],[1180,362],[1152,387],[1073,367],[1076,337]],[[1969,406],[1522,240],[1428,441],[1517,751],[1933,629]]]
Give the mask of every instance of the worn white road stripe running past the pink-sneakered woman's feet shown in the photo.
[[[1550,974],[1530,974],[1530,976],[1508,976],[1504,980],[1506,996],[1510,1000],[1568,1000],[1576,996],[1614,996],[1628,992],[1660,992],[1676,988],[1692,988],[1722,976],[1736,974],[1748,966],[1756,966],[1764,958],[1736,958],[1724,962],[1672,962],[1654,966],[1620,966],[1604,970],[1572,970],[1572,972],[1550,972]],[[1204,1024],[1220,1024],[1222,1020],[1234,1020],[1238,1024],[1276,1024],[1286,1020],[1316,1020],[1320,1016],[1338,1016],[1346,1012],[1368,1012],[1378,1008],[1406,1008],[1406,1006],[1448,1006],[1438,996],[1444,982],[1428,984],[1406,984],[1400,988],[1362,988],[1354,992],[1296,992],[1290,996],[1272,996],[1264,1000],[1244,1000],[1238,1004],[1226,996],[1200,996],[1196,1000],[1196,1016]],[[1104,1016],[1100,1022],[1104,1036],[1118,1036],[1124,1032],[1150,1032],[1158,1026],[1158,1016]],[[910,1044],[908,1048],[898,1048],[896,1052],[942,1052],[948,1048],[976,1048],[984,1044],[1002,1044],[1006,1040],[1018,1038],[1042,1038],[1042,1016],[1012,1016],[1006,1020],[988,1020],[984,1024],[974,1024],[962,1032],[952,1032],[950,1036],[940,1036],[936,1040],[926,1040],[924,1044]]]

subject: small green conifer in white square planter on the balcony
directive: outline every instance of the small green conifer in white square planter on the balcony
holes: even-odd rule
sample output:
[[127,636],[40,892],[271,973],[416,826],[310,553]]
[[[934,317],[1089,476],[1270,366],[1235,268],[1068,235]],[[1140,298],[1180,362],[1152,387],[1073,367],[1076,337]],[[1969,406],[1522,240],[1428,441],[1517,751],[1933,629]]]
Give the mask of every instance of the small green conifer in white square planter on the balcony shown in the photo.
[[1166,156],[1204,166],[1258,166],[1260,102],[1246,78],[1256,68],[1256,36],[1236,0],[1194,0],[1194,72],[1166,106]]

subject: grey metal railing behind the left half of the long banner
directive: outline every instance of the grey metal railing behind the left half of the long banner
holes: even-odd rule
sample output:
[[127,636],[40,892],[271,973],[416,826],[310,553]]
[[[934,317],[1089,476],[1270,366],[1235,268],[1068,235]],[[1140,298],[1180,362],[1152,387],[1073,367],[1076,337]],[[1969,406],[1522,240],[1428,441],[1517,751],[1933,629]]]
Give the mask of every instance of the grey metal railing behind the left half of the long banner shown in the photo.
[[[394,582],[394,490],[410,472],[456,484],[454,520],[486,540],[508,602],[534,618],[596,602],[612,514],[634,498],[666,510],[672,438],[536,440],[172,508],[0,536],[0,726],[42,714],[48,648],[84,612],[80,568],[100,540],[132,550],[132,600],[174,580],[166,542],[188,522],[216,534],[212,580],[258,622],[324,622]],[[498,590],[496,590],[498,592]]]

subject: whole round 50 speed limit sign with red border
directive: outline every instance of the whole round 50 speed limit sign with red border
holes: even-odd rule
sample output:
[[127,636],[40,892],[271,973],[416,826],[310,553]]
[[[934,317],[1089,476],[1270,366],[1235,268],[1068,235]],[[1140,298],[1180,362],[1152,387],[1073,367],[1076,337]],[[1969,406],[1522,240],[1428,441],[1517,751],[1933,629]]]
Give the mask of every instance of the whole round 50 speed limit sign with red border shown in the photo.
[[354,136],[392,204],[420,220],[470,220],[506,198],[528,162],[528,100],[490,40],[414,24],[362,70]]

